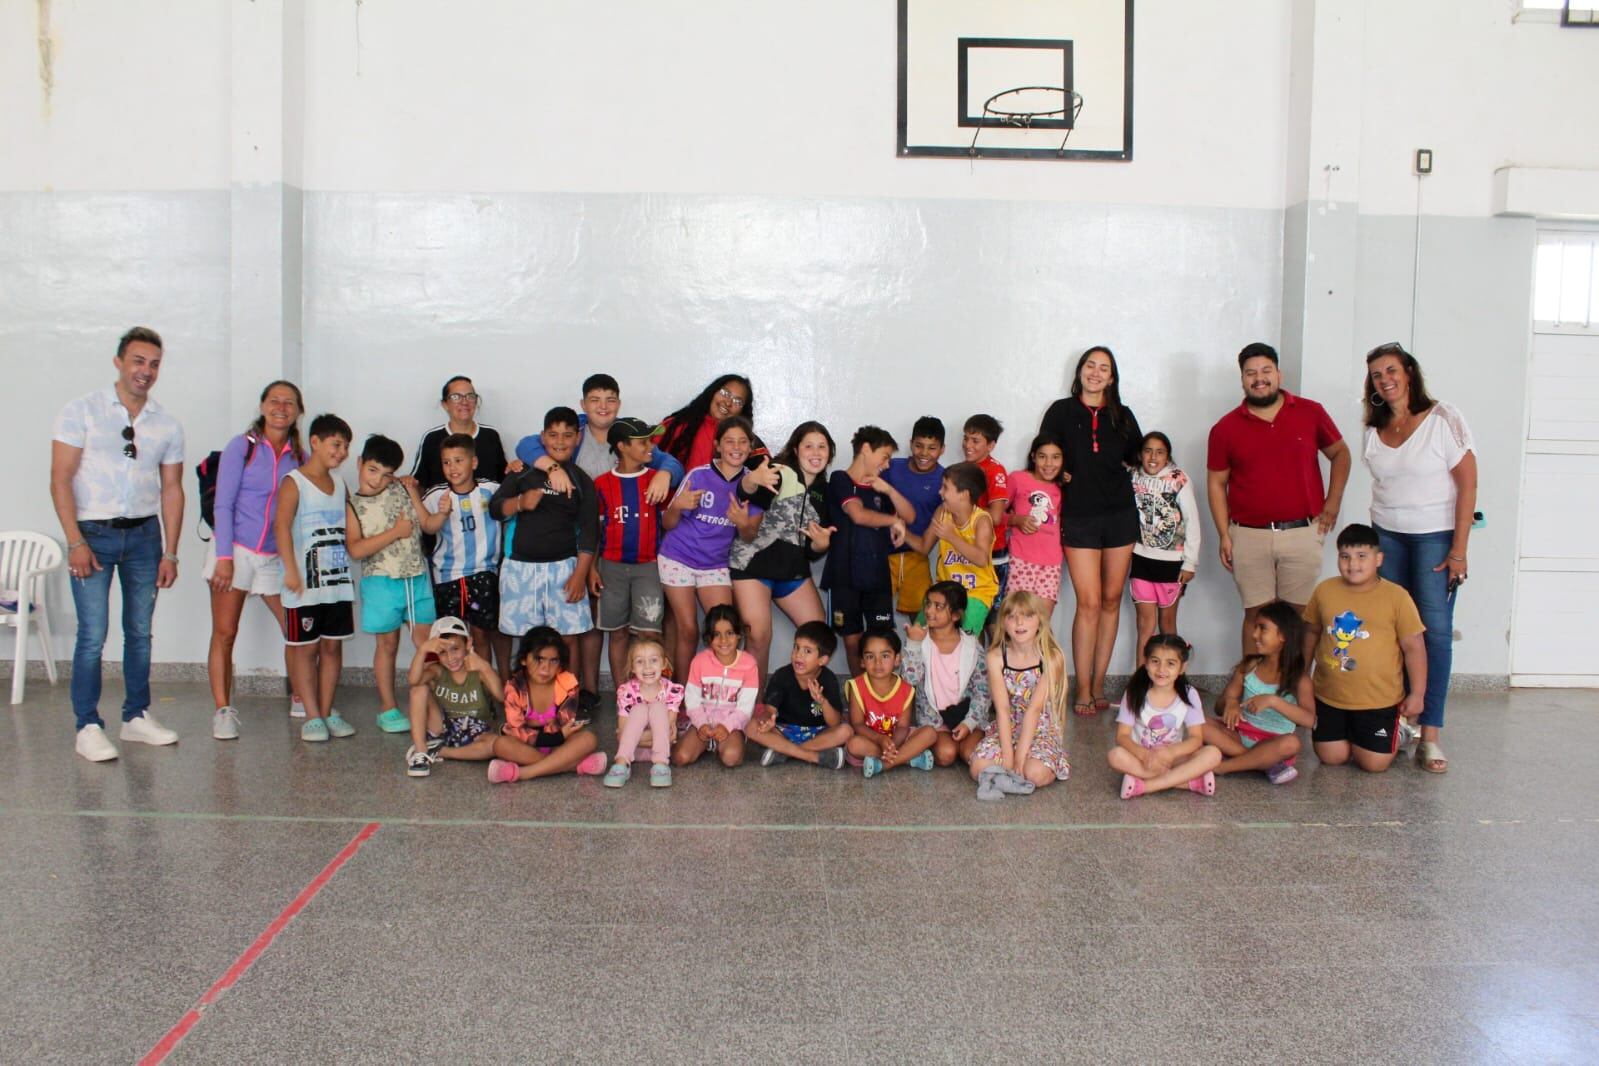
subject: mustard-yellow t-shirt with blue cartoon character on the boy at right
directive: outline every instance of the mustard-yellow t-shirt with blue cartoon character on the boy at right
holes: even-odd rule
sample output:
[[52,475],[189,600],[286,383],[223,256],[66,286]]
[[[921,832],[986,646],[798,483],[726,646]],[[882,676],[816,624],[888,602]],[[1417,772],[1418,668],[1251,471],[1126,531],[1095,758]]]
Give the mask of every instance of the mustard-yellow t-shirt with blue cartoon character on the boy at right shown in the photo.
[[1399,641],[1426,631],[1415,601],[1399,585],[1377,579],[1358,590],[1329,577],[1305,604],[1316,633],[1316,698],[1345,711],[1372,711],[1404,700]]

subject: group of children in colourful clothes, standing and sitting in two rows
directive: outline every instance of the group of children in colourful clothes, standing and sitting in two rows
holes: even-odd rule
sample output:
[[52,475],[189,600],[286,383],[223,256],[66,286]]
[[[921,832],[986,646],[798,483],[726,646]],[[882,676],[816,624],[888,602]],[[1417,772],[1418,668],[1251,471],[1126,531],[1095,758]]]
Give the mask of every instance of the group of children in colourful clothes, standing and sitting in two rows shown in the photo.
[[[899,459],[887,430],[863,425],[828,475],[827,427],[801,424],[771,455],[742,414],[747,382],[742,393],[718,382],[692,440],[681,430],[684,454],[704,460],[686,473],[656,446],[665,427],[619,416],[604,374],[584,384],[582,414],[545,414],[499,481],[478,476],[472,435],[438,441],[438,484],[397,476],[401,447],[373,435],[349,492],[339,467],[353,433],[337,416],[313,419],[275,513],[301,737],[355,732],[333,694],[360,588],[361,630],[377,644],[377,726],[409,732],[413,777],[451,759],[486,762],[491,782],[576,772],[620,788],[648,750],[649,785],[664,788],[673,766],[710,753],[736,767],[748,745],[763,767],[868,778],[963,762],[983,801],[1067,780],[1068,708],[1091,714],[1100,697],[1079,681],[1071,703],[1051,628],[1070,553],[1063,441],[1041,433],[1027,468],[1007,471],[993,459],[1003,427],[977,414],[963,427],[964,460],[943,467],[939,419],[918,419]],[[1303,612],[1281,601],[1258,612],[1255,650],[1207,718],[1177,634],[1199,558],[1194,492],[1164,433],[1140,441],[1137,467],[1124,467],[1140,524],[1138,655],[1108,754],[1121,796],[1209,796],[1217,775],[1247,770],[1286,785],[1300,727],[1322,764],[1386,769],[1401,719],[1420,713],[1426,655],[1410,596],[1378,577],[1377,534],[1340,532],[1338,575]],[[795,636],[788,665],[766,676],[774,607]],[[416,652],[401,710],[405,634]],[[614,758],[592,729],[606,638]]]

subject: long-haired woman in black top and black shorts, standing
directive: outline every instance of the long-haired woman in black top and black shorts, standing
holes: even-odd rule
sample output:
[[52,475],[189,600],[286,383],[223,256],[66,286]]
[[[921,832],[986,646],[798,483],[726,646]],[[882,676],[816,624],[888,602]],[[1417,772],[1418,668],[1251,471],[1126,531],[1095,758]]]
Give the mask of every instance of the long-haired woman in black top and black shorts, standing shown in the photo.
[[1060,539],[1078,601],[1071,619],[1078,694],[1071,710],[1084,716],[1110,708],[1105,670],[1116,647],[1121,590],[1138,540],[1129,468],[1138,462],[1143,430],[1121,403],[1119,380],[1111,350],[1089,348],[1078,360],[1071,395],[1049,404],[1038,430],[1065,444]]

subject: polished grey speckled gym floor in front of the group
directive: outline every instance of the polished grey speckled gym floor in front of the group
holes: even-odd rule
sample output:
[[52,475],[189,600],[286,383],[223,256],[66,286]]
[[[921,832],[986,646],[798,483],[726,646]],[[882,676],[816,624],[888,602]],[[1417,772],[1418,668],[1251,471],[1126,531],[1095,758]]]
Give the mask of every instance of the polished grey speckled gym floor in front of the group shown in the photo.
[[10,714],[5,1061],[1599,1061],[1599,694],[1457,697],[1445,777],[1212,799],[1119,801],[1102,716],[995,805],[951,770],[414,780],[366,692],[326,745],[158,695],[182,742],[99,766],[64,686]]

